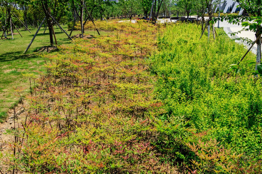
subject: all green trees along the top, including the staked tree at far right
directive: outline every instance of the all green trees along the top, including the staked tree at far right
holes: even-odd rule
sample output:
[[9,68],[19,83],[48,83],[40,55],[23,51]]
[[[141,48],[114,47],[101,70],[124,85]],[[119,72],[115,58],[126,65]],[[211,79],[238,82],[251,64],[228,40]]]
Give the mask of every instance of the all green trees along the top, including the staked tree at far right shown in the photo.
[[[218,10],[219,4],[225,0],[0,0],[0,31],[1,38],[7,37],[11,29],[38,28],[45,18],[44,26],[49,30],[50,45],[56,42],[53,26],[58,23],[80,22],[82,35],[84,25],[88,20],[107,20],[110,18],[144,17],[153,21],[159,16],[179,16],[191,14],[201,17],[202,34],[213,26],[214,12]],[[237,0],[240,7],[245,9],[251,18],[243,16],[229,16],[229,22],[240,23],[243,21],[255,21],[255,23],[244,23],[244,25],[261,36],[261,0]],[[205,21],[204,16],[208,16]],[[252,18],[253,17],[253,18]],[[255,17],[255,18],[254,18]],[[13,26],[13,28],[12,28]],[[215,32],[213,29],[213,37]],[[256,41],[258,45],[258,60],[261,59],[261,39]],[[257,61],[258,63],[258,61]]]

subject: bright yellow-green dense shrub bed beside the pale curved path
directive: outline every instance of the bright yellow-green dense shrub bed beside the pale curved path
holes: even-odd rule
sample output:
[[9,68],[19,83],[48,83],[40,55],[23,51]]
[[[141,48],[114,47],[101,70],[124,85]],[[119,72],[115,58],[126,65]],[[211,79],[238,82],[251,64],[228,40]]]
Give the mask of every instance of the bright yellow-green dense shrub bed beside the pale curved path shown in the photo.
[[224,32],[209,42],[200,35],[197,25],[179,24],[158,39],[150,70],[166,113],[155,145],[164,161],[180,161],[192,173],[261,173],[262,80],[229,70],[246,53],[242,45]]

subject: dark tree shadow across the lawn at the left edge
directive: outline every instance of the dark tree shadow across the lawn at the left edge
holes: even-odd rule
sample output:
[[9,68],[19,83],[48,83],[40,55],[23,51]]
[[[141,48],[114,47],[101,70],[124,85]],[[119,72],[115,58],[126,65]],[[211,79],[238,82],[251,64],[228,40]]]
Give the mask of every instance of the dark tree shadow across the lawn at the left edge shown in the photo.
[[35,54],[23,54],[23,51],[15,51],[15,52],[1,54],[0,62],[13,61],[17,59],[30,59],[30,58],[36,58],[36,57],[37,55]]

